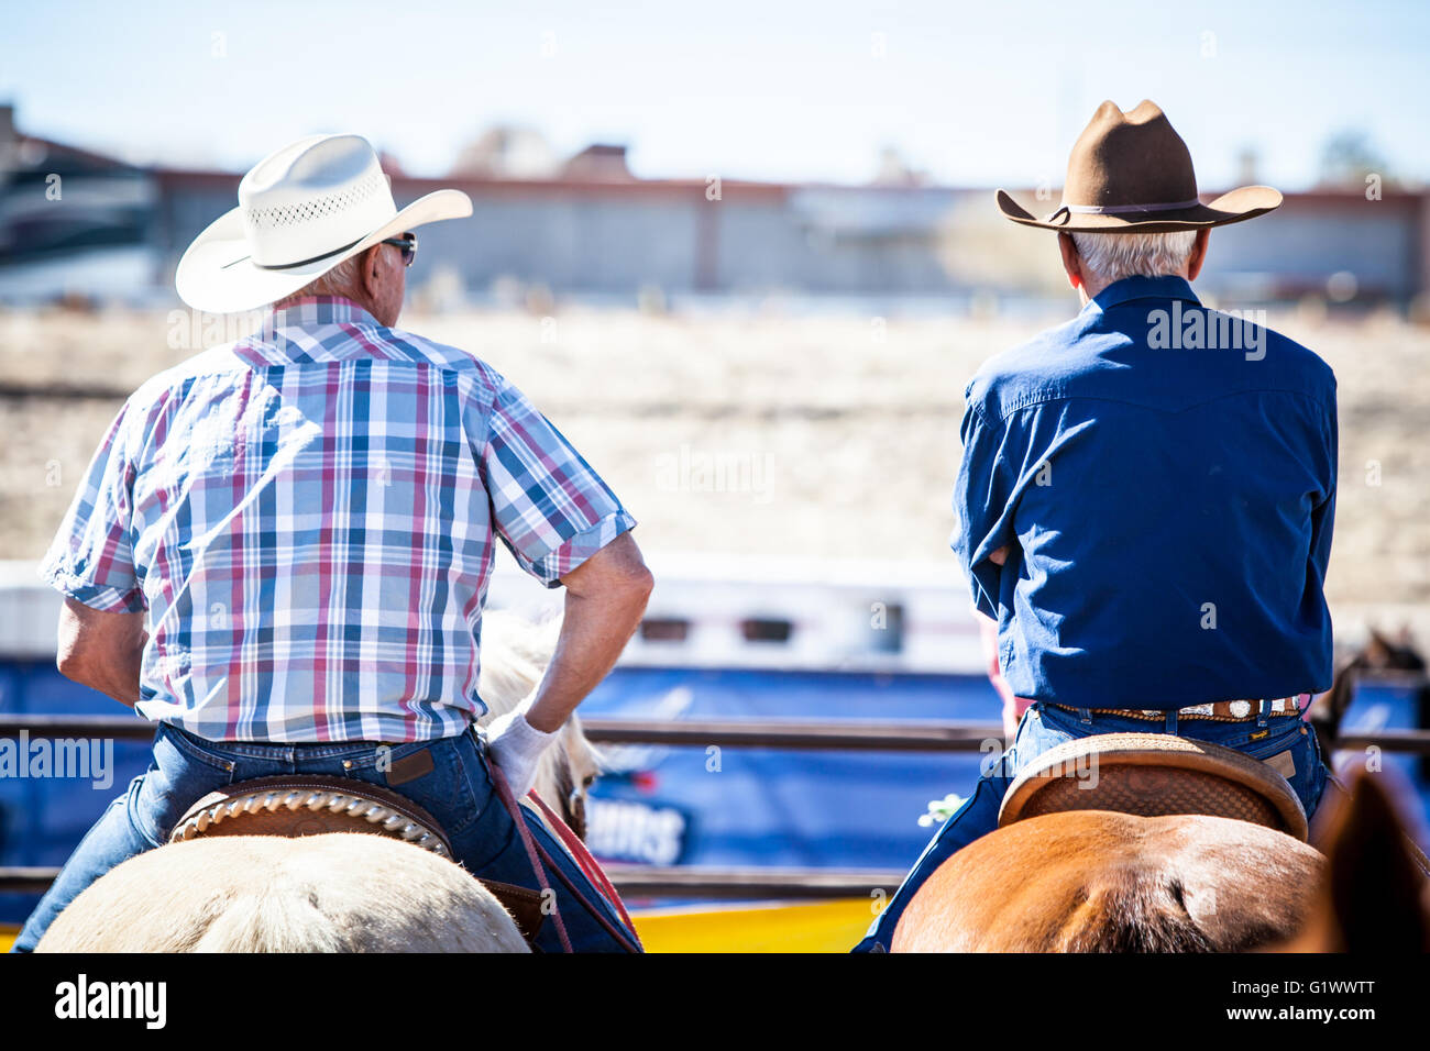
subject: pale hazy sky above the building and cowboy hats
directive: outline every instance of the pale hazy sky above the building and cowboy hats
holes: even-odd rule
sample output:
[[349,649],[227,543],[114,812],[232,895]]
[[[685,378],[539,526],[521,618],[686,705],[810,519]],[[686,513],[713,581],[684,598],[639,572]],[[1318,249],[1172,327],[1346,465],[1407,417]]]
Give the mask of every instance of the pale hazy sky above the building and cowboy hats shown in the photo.
[[1430,3],[9,4],[21,130],[245,169],[355,130],[440,174],[496,122],[646,177],[864,182],[884,146],[951,184],[1060,186],[1103,99],[1154,99],[1203,189],[1308,184],[1333,132],[1430,176]]

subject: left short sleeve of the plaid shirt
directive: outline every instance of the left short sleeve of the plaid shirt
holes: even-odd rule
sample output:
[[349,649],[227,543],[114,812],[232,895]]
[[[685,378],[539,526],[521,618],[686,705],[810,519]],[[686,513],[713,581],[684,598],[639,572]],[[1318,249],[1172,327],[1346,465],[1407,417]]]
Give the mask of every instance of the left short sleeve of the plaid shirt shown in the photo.
[[147,608],[130,543],[134,466],[127,445],[130,406],[120,409],[80,482],[40,563],[53,588],[104,613]]

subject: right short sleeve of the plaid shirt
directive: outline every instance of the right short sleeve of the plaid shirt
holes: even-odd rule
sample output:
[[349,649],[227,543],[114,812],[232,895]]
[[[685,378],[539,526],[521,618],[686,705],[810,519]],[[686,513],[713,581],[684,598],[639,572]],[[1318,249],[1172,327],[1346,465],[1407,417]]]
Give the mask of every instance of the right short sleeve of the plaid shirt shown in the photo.
[[635,528],[581,453],[506,382],[488,418],[480,469],[496,533],[548,588]]

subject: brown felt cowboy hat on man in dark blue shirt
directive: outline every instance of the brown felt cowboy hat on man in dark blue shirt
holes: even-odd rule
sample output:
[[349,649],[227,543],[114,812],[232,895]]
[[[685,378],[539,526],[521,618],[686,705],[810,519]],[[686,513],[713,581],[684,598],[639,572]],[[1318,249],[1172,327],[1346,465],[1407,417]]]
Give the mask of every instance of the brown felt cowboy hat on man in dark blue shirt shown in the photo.
[[1210,204],[1197,197],[1187,143],[1145,99],[1123,113],[1104,102],[1083,130],[1062,183],[1062,203],[1047,219],[998,190],[998,210],[1024,226],[1065,233],[1200,230],[1256,219],[1281,203],[1270,186],[1243,186]]

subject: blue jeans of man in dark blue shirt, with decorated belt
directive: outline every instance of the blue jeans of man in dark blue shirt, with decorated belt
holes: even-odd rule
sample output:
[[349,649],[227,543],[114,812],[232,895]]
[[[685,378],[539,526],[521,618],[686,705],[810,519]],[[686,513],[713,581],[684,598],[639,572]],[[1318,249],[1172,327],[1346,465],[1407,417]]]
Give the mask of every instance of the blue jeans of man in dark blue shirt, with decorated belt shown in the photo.
[[1216,719],[1175,719],[1148,722],[1125,716],[1101,715],[1097,712],[1070,712],[1052,705],[1035,704],[1028,708],[1018,724],[1012,746],[997,759],[984,764],[984,775],[978,779],[974,794],[934,834],[928,847],[914,862],[898,892],[869,925],[864,941],[855,945],[855,952],[888,951],[894,928],[908,908],[908,902],[924,881],[948,861],[955,852],[974,839],[998,828],[998,808],[1002,796],[1024,766],[1047,752],[1074,738],[1094,734],[1178,734],[1195,741],[1210,741],[1214,745],[1236,748],[1256,759],[1268,759],[1290,749],[1296,772],[1287,778],[1310,818],[1326,791],[1328,771],[1321,759],[1316,734],[1301,721],[1300,715],[1268,714],[1244,722],[1218,722]]

